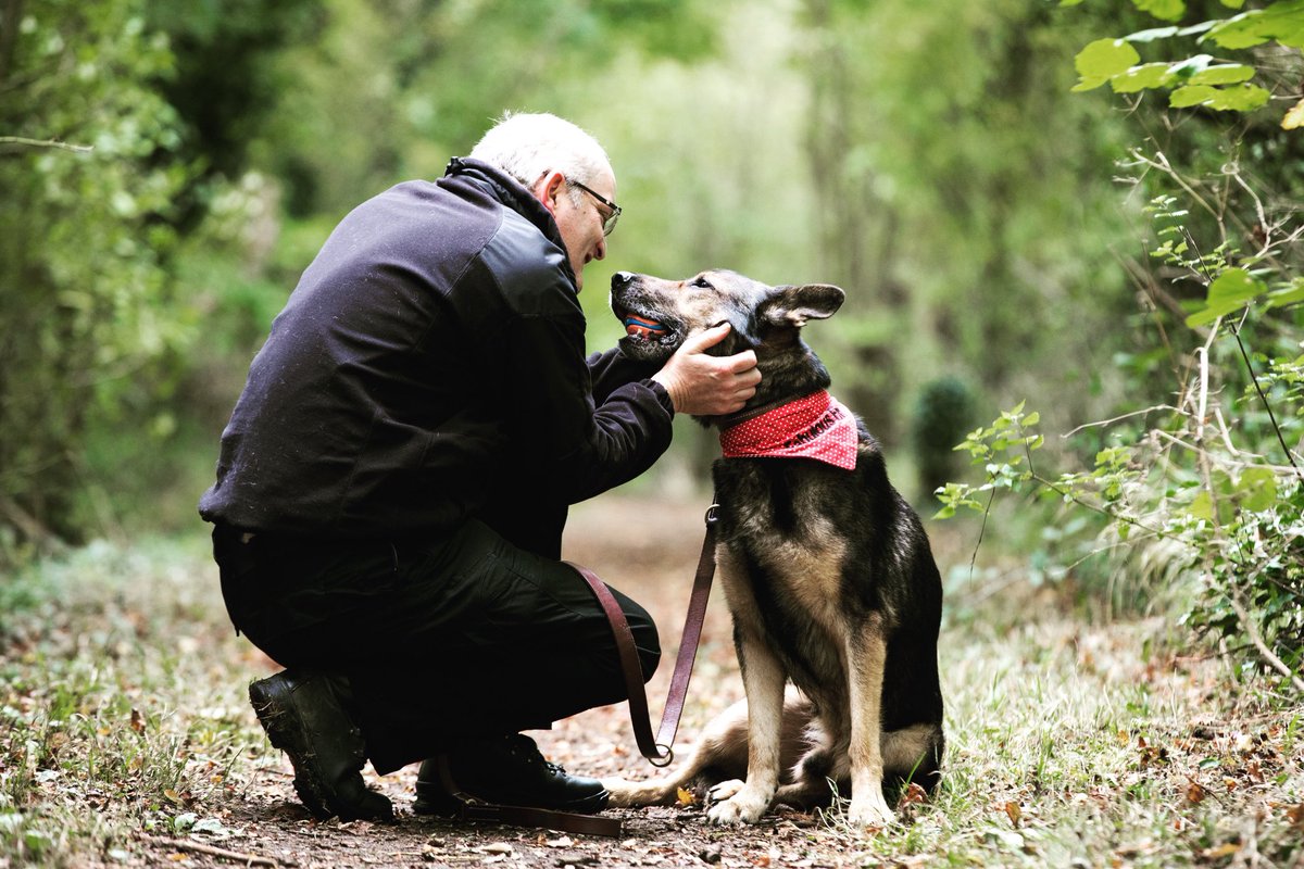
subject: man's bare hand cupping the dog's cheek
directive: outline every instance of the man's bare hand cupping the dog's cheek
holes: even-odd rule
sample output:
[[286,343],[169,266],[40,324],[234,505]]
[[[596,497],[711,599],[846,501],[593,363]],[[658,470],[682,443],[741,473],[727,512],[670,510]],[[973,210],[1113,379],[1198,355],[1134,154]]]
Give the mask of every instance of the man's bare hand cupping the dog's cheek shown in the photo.
[[760,371],[755,353],[743,350],[722,357],[704,353],[728,334],[729,323],[721,323],[692,336],[652,375],[670,393],[675,413],[719,417],[742,410],[747,399],[756,395]]

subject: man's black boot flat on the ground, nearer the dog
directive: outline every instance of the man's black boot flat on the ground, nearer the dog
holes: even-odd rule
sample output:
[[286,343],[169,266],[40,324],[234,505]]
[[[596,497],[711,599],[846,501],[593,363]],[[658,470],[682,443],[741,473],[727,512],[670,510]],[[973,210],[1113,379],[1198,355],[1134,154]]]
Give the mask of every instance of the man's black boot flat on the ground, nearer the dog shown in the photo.
[[[606,808],[608,792],[597,779],[569,775],[544,760],[535,740],[512,734],[466,741],[447,753],[458,788],[498,805],[523,805],[554,812],[595,814]],[[458,801],[439,780],[434,758],[421,763],[416,782],[417,814],[454,814]]]

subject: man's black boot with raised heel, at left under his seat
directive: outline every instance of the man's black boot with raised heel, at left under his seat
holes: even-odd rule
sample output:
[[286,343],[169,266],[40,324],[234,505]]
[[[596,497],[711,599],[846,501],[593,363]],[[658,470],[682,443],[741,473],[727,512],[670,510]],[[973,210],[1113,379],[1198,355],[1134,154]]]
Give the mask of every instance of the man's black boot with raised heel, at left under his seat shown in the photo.
[[249,685],[258,722],[295,766],[295,791],[319,819],[393,821],[389,799],[368,790],[363,732],[346,710],[348,684],[339,676],[283,670]]

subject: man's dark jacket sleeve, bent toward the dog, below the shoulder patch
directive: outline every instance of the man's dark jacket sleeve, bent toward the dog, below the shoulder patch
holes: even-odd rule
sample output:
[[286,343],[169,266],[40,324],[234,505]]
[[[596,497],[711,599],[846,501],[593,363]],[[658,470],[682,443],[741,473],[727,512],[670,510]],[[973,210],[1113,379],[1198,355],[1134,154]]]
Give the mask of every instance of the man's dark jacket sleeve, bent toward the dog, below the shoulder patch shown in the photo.
[[566,503],[634,479],[670,446],[674,409],[660,384],[609,358],[595,400],[582,317],[519,317],[503,331],[518,387],[514,429]]

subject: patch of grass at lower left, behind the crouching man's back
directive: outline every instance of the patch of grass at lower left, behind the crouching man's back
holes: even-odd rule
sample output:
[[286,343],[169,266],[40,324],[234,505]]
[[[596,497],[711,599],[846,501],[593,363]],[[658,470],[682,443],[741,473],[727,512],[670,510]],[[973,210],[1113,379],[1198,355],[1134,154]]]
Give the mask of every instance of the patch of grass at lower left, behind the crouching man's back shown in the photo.
[[96,543],[0,585],[0,865],[126,860],[259,744],[205,558]]

